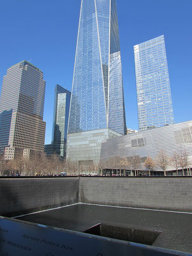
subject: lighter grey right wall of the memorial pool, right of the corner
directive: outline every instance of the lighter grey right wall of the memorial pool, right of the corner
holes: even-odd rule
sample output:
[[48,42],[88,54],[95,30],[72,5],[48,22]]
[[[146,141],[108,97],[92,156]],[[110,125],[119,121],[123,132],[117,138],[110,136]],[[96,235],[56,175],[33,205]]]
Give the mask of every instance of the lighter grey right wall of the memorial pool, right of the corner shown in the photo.
[[79,202],[192,212],[192,178],[81,178]]

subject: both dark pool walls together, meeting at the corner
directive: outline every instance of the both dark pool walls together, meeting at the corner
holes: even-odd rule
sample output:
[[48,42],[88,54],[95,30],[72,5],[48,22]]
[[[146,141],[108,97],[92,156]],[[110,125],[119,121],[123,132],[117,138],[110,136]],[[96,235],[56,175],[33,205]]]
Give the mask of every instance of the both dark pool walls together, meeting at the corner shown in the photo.
[[182,177],[0,179],[0,215],[77,202],[192,212],[191,184],[192,178]]

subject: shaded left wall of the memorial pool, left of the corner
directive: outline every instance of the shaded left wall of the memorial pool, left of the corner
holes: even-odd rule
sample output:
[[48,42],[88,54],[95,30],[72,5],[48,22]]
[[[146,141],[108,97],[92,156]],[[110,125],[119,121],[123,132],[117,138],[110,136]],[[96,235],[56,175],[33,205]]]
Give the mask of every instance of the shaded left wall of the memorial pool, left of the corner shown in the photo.
[[78,201],[79,178],[0,179],[0,215],[16,216]]

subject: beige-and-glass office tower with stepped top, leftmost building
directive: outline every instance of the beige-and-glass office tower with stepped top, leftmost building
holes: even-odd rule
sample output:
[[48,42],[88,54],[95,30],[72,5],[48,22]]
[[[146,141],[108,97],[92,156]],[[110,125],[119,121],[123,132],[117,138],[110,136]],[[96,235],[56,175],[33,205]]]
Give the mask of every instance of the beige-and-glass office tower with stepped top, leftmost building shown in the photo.
[[[0,98],[0,150],[13,159],[16,150],[44,151],[44,74],[28,61],[8,68]],[[5,150],[4,150],[5,149]]]

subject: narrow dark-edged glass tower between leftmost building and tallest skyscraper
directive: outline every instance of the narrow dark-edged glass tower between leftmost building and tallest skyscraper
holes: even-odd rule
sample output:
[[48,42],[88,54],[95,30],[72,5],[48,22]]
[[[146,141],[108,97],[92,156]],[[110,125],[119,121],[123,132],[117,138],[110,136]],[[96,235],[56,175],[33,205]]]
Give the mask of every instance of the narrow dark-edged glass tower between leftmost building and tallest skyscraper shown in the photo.
[[56,154],[65,157],[71,93],[59,84],[56,84],[54,93],[52,148]]

